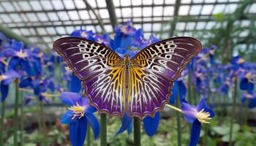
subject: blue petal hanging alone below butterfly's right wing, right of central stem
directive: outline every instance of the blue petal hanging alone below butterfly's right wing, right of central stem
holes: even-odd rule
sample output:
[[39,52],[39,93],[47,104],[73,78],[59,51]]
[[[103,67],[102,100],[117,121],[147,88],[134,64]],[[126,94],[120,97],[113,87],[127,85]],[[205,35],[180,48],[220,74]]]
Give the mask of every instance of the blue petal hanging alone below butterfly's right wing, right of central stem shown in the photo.
[[146,131],[146,134],[148,134],[149,137],[152,137],[157,132],[159,119],[160,119],[159,112],[156,113],[154,118],[147,116],[146,118],[143,119],[144,129]]

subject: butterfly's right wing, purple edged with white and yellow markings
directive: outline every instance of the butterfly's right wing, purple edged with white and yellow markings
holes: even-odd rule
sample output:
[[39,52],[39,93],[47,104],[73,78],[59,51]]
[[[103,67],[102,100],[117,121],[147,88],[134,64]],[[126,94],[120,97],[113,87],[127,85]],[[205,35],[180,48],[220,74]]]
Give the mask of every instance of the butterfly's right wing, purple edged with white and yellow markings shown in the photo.
[[171,96],[173,82],[202,49],[197,39],[175,37],[141,50],[129,68],[128,112],[132,116],[154,117]]

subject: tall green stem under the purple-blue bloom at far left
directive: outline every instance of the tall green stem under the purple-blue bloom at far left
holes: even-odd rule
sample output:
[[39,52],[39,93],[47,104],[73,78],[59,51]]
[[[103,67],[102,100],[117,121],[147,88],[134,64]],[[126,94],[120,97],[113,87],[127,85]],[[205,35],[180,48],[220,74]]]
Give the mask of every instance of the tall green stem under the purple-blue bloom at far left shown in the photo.
[[14,111],[14,145],[18,146],[18,107],[19,107],[19,85],[18,80],[15,80],[15,111]]

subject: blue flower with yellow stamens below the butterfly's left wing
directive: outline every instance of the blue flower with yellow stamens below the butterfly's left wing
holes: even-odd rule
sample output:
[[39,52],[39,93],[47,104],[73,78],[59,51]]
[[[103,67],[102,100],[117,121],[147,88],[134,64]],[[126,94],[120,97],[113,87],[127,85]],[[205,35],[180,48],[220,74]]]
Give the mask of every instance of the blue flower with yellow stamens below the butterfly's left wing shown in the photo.
[[69,138],[72,145],[83,145],[88,124],[94,132],[94,139],[97,139],[99,137],[99,121],[93,114],[97,110],[89,106],[89,101],[82,98],[79,93],[72,92],[61,93],[60,99],[69,106],[67,112],[61,117],[61,123],[69,124]]

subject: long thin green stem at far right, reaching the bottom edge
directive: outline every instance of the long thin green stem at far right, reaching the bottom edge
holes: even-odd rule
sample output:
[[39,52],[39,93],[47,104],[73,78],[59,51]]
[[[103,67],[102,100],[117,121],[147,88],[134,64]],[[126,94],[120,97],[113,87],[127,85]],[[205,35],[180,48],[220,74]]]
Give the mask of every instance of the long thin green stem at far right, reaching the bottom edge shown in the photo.
[[233,134],[233,123],[234,123],[234,117],[236,112],[236,95],[237,95],[237,78],[235,77],[235,87],[234,87],[234,93],[233,93],[233,104],[232,104],[232,110],[231,110],[231,118],[230,118],[230,139],[228,145],[232,145],[232,134]]

